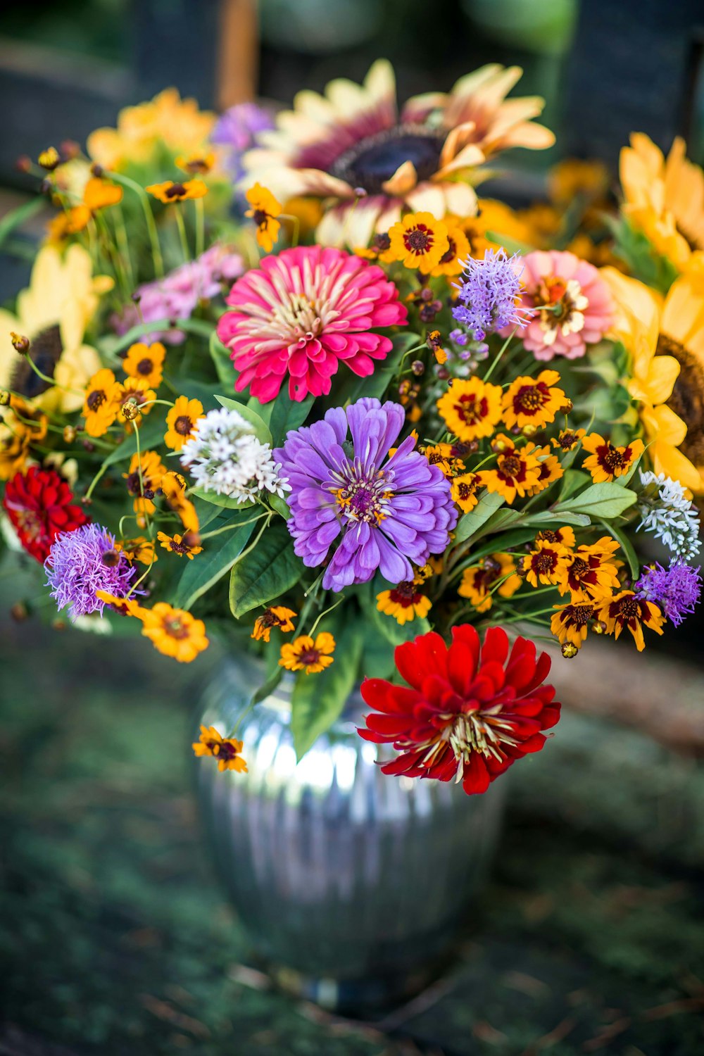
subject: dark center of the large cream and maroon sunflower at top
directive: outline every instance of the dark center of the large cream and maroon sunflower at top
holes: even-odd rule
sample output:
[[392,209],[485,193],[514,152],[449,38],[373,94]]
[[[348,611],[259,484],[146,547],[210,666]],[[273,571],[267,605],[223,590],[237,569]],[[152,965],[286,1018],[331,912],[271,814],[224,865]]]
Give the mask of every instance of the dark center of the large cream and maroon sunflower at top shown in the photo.
[[404,162],[413,163],[419,182],[437,172],[445,136],[422,126],[398,125],[355,144],[332,163],[329,172],[367,194],[382,194],[383,184]]

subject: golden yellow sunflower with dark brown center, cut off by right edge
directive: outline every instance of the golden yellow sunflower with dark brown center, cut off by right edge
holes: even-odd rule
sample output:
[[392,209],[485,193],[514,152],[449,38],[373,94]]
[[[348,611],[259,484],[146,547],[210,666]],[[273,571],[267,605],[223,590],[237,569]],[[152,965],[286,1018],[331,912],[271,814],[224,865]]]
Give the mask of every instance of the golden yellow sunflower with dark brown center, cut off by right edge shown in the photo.
[[628,391],[655,473],[704,492],[704,267],[696,254],[663,301],[615,268],[601,272],[616,304],[611,336],[631,356]]

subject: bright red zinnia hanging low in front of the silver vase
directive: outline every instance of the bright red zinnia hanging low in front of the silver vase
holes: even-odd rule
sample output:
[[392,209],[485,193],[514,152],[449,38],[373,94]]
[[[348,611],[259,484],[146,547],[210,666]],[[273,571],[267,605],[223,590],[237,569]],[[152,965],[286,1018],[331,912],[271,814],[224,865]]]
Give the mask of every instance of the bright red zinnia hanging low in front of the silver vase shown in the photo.
[[[508,662],[507,662],[508,658]],[[360,736],[393,743],[401,755],[386,774],[462,781],[467,793],[491,781],[545,744],[544,730],[559,719],[555,691],[543,685],[550,657],[517,638],[509,656],[502,627],[490,627],[483,646],[470,624],[453,627],[450,647],[431,631],[396,649],[396,666],[411,689],[367,678],[362,696],[376,711]]]

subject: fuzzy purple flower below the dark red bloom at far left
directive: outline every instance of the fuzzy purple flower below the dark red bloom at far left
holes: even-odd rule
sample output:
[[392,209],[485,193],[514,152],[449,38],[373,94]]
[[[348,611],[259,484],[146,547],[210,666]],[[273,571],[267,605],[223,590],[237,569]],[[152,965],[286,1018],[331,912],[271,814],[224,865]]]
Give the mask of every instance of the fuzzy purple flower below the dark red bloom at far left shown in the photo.
[[[115,536],[100,525],[82,525],[75,531],[57,535],[44,562],[44,571],[52,587],[52,598],[59,609],[71,605],[71,618],[100,612],[104,602],[95,597],[96,590],[106,590],[116,598],[125,598],[130,589],[136,568],[131,567],[123,553],[115,560]],[[103,562],[103,554],[111,551],[111,560]],[[141,593],[142,591],[137,591]]]

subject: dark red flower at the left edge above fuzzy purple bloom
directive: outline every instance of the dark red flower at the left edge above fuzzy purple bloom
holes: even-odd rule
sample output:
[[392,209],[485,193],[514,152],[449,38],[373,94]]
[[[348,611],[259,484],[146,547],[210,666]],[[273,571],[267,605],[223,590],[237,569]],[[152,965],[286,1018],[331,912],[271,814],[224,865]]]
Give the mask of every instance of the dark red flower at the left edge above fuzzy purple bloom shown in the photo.
[[46,560],[59,532],[73,531],[88,522],[73,498],[66,482],[53,469],[32,466],[7,480],[2,505],[20,543],[37,561]]

